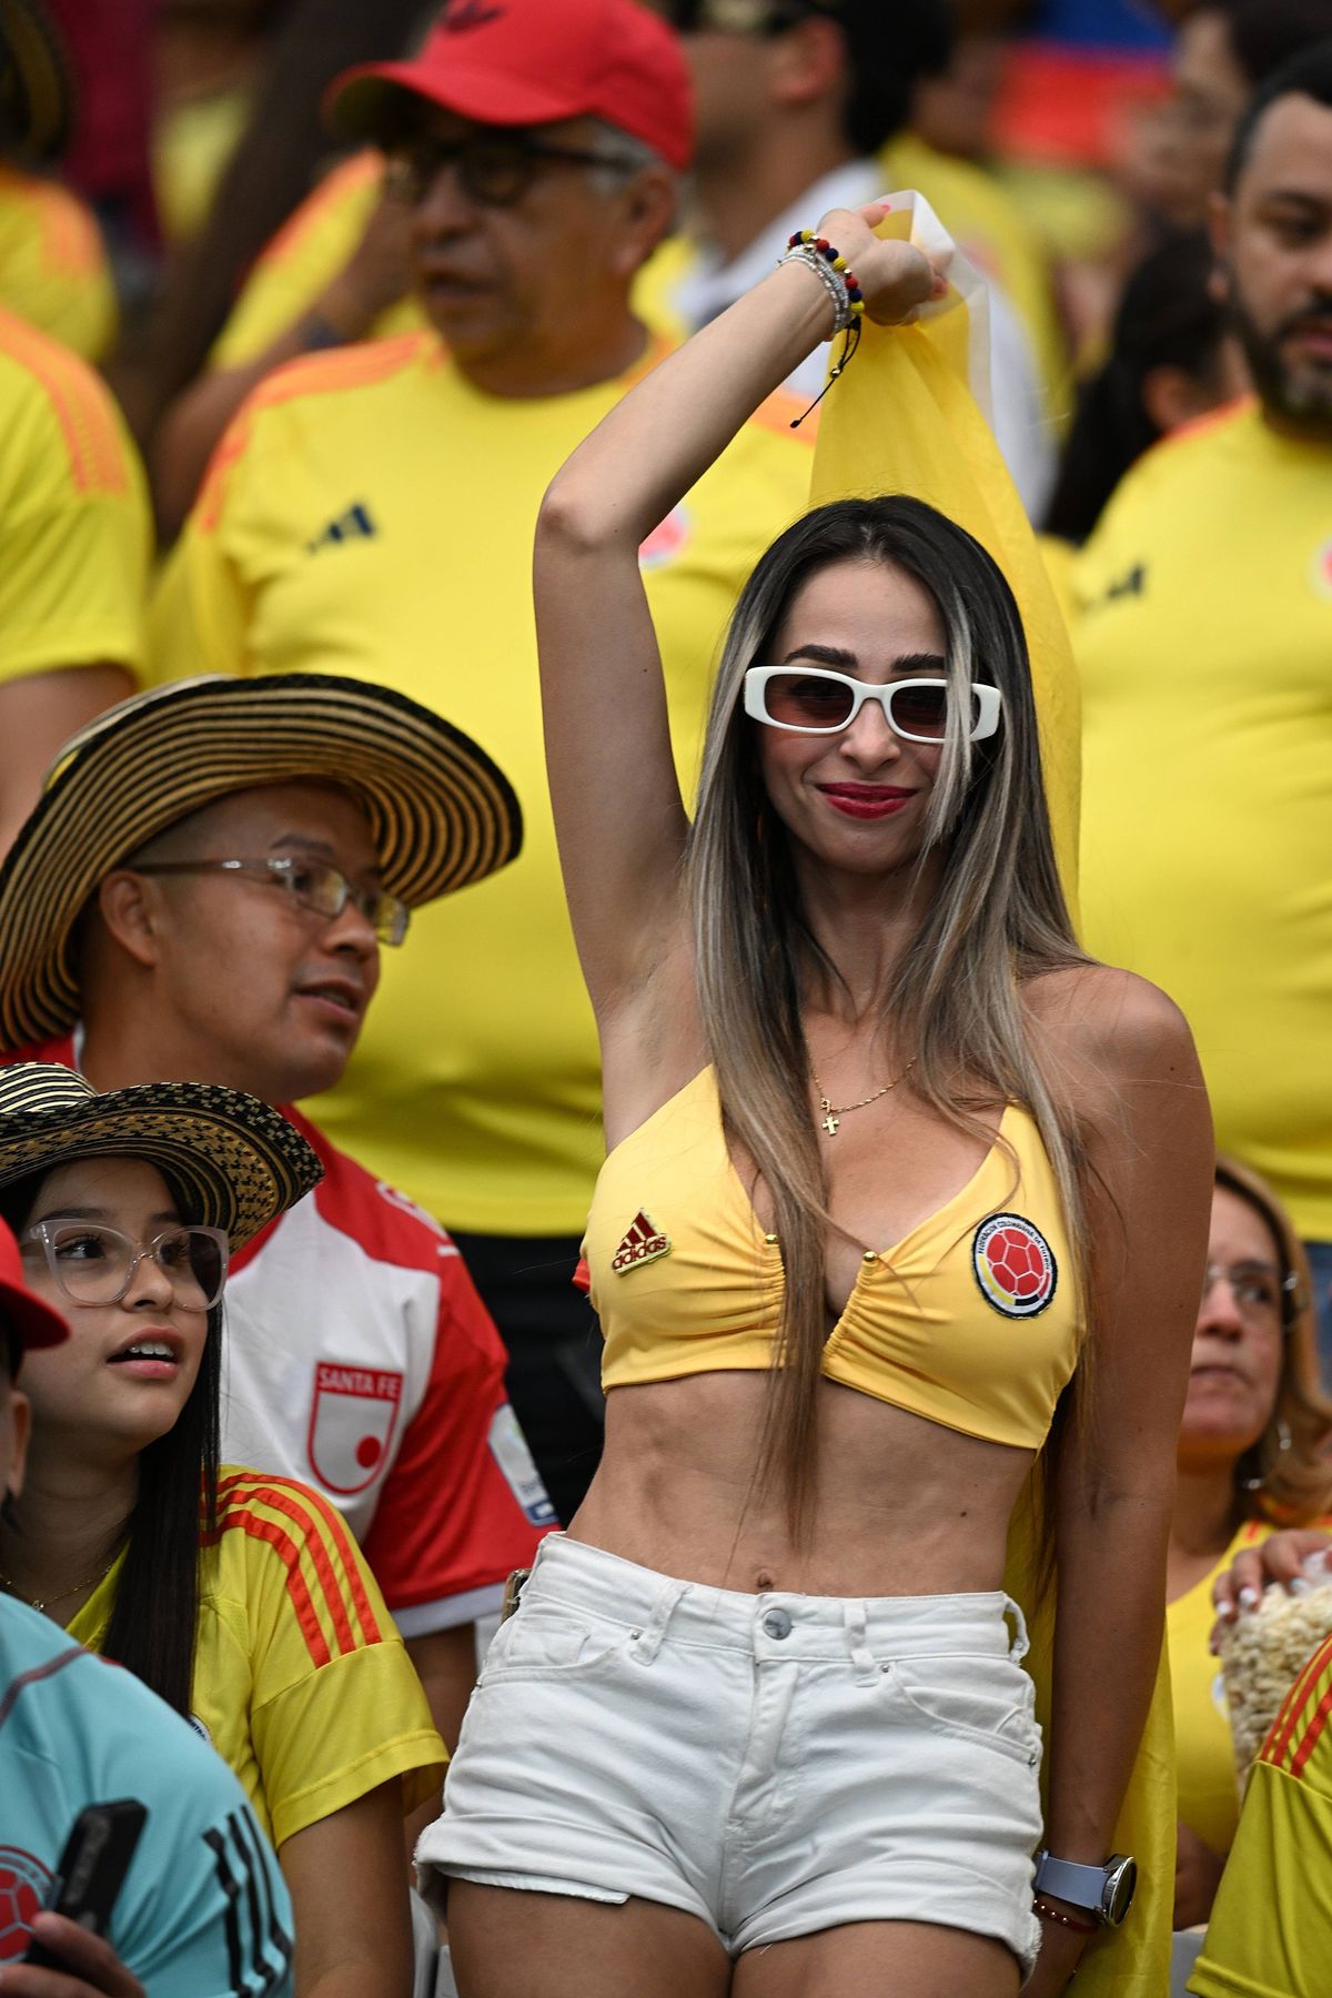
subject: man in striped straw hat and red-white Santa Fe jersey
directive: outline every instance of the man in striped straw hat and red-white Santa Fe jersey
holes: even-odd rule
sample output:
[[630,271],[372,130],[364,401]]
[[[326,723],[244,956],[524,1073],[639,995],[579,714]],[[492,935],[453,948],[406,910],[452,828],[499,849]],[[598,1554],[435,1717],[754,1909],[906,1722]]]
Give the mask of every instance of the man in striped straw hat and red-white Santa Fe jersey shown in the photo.
[[553,1512],[457,1249],[288,1105],[341,1075],[379,945],[519,847],[517,799],[461,729],[292,673],[110,709],[0,869],[0,1059],[246,1089],[318,1149],[324,1183],[234,1261],[224,1449],[343,1510],[447,1740],[473,1622]]

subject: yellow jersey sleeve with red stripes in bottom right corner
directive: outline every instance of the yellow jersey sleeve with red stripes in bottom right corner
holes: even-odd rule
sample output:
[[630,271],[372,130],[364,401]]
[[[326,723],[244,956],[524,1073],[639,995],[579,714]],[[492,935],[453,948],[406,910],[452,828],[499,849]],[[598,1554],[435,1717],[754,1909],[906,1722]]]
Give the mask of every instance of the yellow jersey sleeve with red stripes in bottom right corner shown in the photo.
[[1296,1678],[1254,1762],[1188,1980],[1198,1998],[1332,1990],[1332,1638]]

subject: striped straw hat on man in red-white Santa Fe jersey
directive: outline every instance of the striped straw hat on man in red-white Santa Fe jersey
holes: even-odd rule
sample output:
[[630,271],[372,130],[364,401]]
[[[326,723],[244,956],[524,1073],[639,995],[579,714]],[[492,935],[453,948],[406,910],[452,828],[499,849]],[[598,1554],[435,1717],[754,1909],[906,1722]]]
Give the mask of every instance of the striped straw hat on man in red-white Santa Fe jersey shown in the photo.
[[112,867],[178,819],[266,783],[365,807],[383,887],[409,907],[521,849],[513,785],[441,715],[337,673],[210,673],[136,693],[72,735],[0,867],[0,1047],[80,1013],[74,929]]

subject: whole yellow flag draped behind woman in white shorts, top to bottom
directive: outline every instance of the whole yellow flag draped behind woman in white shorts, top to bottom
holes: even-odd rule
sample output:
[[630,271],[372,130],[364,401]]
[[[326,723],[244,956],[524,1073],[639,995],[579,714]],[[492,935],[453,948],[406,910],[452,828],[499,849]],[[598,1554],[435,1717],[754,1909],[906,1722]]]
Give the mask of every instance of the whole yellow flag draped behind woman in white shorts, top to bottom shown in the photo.
[[[911,236],[925,248],[947,238],[929,206],[911,194],[889,196],[881,236]],[[821,406],[811,503],[915,494],[967,527],[1008,577],[1026,629],[1040,721],[1040,761],[1060,875],[1074,907],[1078,865],[1080,703],[1068,633],[1040,559],[1036,537],[973,396],[985,394],[983,286],[963,258],[941,308],[917,326],[865,324],[861,348]],[[1052,1664],[1052,1590],[1036,1600],[1040,1544],[1030,1500],[1018,1506],[1008,1534],[1004,1586],[1022,1604],[1032,1648],[1036,1710],[1048,1726]],[[1164,1606],[1162,1606],[1164,1634]],[[1138,1758],[1114,1828],[1114,1852],[1138,1862],[1138,1894],[1120,1930],[1096,1936],[1078,1968],[1078,1998],[1160,1998],[1170,1982],[1174,1904],[1174,1734],[1164,1660],[1142,1732]]]

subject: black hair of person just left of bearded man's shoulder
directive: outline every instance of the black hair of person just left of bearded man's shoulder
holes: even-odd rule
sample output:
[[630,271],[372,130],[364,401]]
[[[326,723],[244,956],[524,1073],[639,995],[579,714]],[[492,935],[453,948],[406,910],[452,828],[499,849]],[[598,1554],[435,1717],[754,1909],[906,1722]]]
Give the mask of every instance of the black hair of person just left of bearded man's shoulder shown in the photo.
[[1154,368],[1182,368],[1200,386],[1220,388],[1226,310],[1208,292],[1212,268],[1206,232],[1188,230],[1150,250],[1128,278],[1110,354],[1078,390],[1048,533],[1084,541],[1122,476],[1160,438],[1142,394]]

